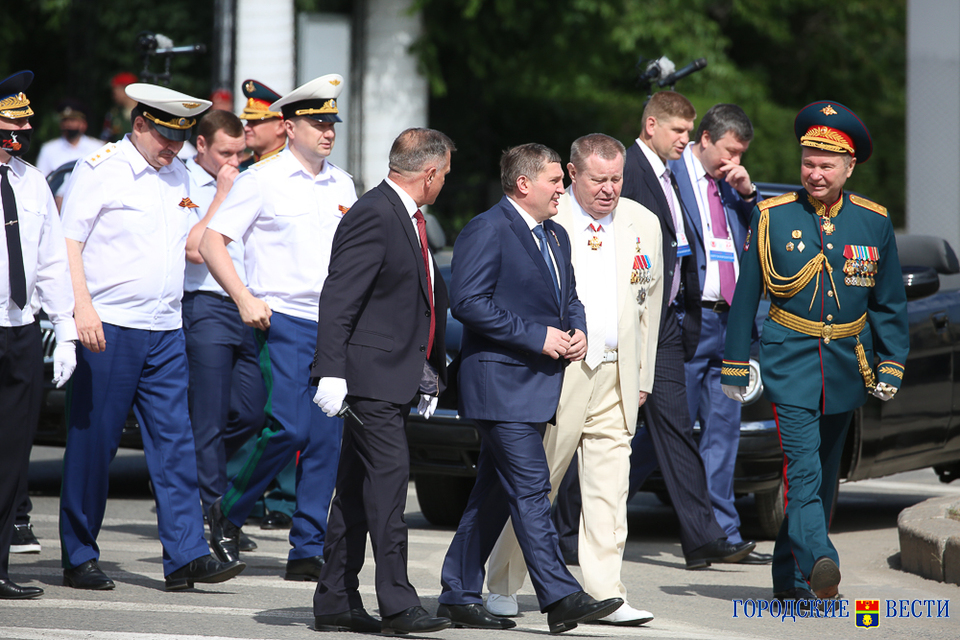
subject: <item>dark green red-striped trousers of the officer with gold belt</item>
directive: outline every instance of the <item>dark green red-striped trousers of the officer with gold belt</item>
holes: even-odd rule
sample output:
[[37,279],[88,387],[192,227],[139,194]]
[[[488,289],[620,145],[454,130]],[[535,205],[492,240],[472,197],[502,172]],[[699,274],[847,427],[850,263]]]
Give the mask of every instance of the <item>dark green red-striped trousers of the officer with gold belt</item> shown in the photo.
[[827,532],[840,458],[852,411],[823,415],[816,409],[774,405],[783,449],[786,515],[773,548],[773,590],[809,589],[813,564],[840,556]]

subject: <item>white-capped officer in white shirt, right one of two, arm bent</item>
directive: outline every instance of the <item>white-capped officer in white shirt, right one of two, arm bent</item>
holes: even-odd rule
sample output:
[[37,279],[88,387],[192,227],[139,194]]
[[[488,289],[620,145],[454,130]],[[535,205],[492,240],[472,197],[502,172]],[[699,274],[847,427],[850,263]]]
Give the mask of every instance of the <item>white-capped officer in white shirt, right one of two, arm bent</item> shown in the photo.
[[[327,158],[343,78],[330,74],[270,106],[283,114],[287,148],[237,178],[200,243],[210,273],[254,327],[267,386],[267,419],[243,470],[210,510],[211,543],[239,556],[239,527],[277,473],[299,451],[297,508],[285,577],[316,580],[323,565],[343,421],[313,404],[309,386],[320,291],[333,235],[357,200],[351,177]],[[227,250],[244,243],[246,285]]]

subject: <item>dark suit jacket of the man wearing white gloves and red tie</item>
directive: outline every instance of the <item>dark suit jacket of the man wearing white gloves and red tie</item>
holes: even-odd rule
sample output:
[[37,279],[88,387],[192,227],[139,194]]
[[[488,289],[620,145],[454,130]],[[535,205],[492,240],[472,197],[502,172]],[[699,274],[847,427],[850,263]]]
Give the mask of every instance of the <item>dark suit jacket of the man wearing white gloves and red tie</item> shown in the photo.
[[[442,389],[449,303],[443,278],[436,269],[432,275],[436,329],[430,363]],[[429,294],[410,215],[381,182],[357,200],[334,235],[311,375],[345,378],[353,396],[410,402],[426,358]]]

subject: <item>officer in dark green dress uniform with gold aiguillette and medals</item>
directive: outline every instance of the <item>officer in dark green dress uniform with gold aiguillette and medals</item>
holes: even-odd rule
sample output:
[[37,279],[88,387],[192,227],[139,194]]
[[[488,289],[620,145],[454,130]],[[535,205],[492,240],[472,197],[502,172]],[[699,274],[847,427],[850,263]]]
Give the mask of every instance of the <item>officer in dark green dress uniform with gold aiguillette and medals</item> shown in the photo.
[[750,330],[760,296],[769,294],[760,368],[783,448],[787,505],[774,547],[774,595],[831,598],[840,558],[827,531],[840,455],[867,393],[890,400],[903,380],[907,301],[886,208],[844,191],[873,149],[866,126],[842,104],[821,101],[800,111],[794,131],[803,189],[753,210],[721,383],[742,401]]

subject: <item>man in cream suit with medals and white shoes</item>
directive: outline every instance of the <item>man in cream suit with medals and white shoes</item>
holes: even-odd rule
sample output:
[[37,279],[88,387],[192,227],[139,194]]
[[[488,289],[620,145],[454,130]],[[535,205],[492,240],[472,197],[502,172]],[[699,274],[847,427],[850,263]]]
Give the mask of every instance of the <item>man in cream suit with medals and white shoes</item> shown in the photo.
[[[630,441],[637,413],[653,387],[663,299],[660,222],[620,199],[625,150],[599,133],[574,141],[570,188],[554,220],[570,234],[578,295],[587,317],[587,355],[567,367],[556,424],[543,438],[553,501],[574,452],[580,465],[580,567],[594,598],[624,599],[599,623],[641,625],[648,611],[626,603],[620,565],[627,540]],[[486,607],[516,615],[526,567],[513,527],[490,555]]]

